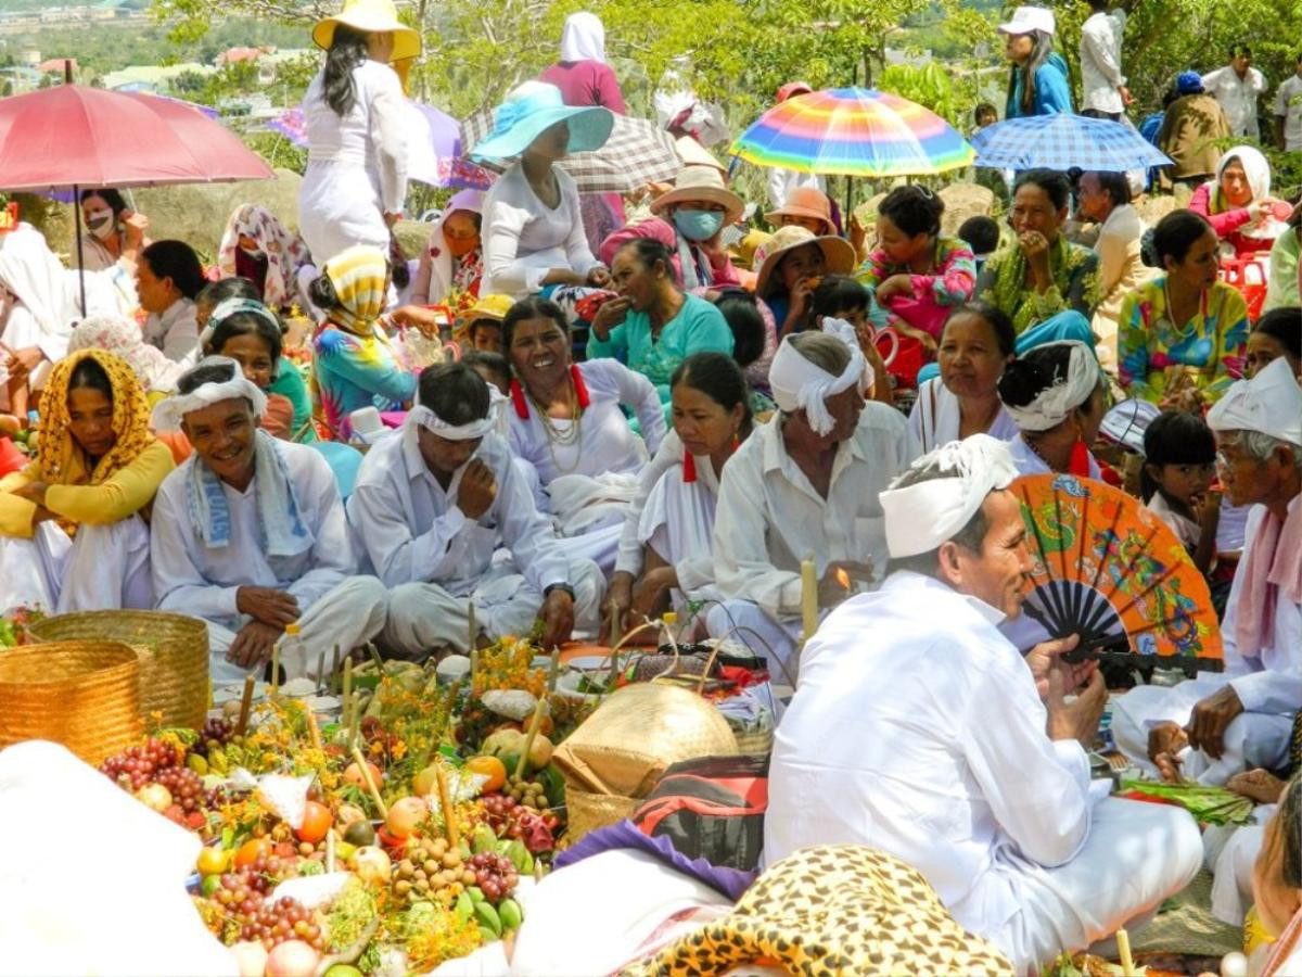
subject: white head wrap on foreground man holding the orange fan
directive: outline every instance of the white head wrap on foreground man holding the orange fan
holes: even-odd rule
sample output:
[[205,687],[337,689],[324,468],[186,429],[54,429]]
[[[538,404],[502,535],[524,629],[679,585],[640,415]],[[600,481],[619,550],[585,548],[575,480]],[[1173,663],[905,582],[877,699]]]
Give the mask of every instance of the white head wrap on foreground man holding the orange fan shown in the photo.
[[940,446],[909,466],[910,472],[919,469],[953,472],[953,477],[896,488],[904,478],[900,475],[878,496],[885,513],[887,548],[894,559],[931,552],[952,539],[987,495],[1017,478],[1008,444],[988,434]]

